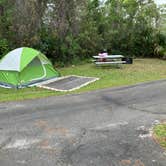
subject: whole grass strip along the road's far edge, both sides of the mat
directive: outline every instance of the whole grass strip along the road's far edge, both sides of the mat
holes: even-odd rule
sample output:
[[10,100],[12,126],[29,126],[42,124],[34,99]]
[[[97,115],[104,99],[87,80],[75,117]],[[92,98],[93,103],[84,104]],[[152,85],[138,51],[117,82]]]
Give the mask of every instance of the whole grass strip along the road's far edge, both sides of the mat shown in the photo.
[[[136,59],[132,65],[122,65],[122,68],[96,67],[92,63],[70,66],[58,69],[63,76],[81,75],[100,78],[88,86],[70,93],[80,93],[103,88],[133,85],[140,82],[166,78],[166,61],[159,59]],[[0,88],[0,102],[41,98],[52,95],[63,95],[64,92],[54,92],[41,88],[3,89]]]

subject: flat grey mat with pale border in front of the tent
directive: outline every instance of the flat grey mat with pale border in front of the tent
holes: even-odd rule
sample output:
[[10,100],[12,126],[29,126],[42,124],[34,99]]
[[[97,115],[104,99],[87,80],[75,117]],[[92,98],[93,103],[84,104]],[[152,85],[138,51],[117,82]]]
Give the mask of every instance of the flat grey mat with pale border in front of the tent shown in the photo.
[[38,87],[55,91],[73,91],[86,86],[96,80],[98,80],[98,78],[72,75],[56,80],[50,80],[48,82],[43,82],[43,84],[39,85]]

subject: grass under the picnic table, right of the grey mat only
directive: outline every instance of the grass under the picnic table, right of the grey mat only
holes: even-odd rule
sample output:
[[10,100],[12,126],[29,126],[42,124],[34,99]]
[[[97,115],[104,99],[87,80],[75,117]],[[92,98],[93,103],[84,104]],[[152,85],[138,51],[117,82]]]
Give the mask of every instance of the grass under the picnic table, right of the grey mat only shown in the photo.
[[82,75],[99,77],[100,80],[83,87],[76,92],[84,92],[102,88],[133,85],[140,82],[166,78],[166,61],[158,59],[136,59],[132,65],[122,68],[96,67],[93,64],[62,68],[62,75]]

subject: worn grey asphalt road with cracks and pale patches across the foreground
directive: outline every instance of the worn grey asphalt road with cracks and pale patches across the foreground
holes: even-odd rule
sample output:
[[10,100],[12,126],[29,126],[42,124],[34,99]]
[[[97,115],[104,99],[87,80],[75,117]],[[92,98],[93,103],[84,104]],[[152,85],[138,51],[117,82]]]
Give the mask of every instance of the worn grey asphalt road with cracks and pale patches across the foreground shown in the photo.
[[166,80],[0,103],[0,166],[166,166],[164,119]]

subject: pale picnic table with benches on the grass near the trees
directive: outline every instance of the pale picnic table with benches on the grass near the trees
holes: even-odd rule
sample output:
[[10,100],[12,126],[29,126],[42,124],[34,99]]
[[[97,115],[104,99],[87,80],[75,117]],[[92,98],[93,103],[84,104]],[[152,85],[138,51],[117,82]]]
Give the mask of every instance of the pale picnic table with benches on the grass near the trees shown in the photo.
[[125,64],[126,61],[123,60],[123,55],[106,55],[104,57],[101,56],[93,56],[94,62],[96,65],[107,65],[107,64]]

